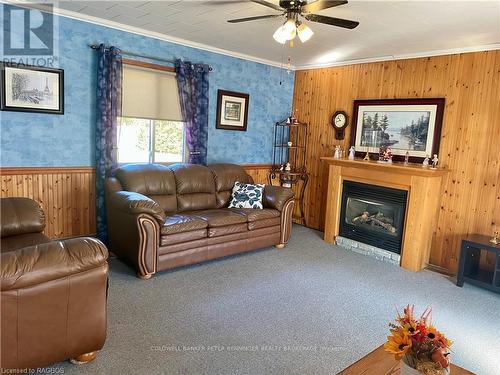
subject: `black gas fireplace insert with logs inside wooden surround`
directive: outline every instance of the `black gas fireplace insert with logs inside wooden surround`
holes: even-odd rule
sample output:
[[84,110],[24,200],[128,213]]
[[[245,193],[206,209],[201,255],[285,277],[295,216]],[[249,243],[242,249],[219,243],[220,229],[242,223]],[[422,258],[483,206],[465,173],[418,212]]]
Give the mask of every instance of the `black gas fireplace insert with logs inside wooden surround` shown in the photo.
[[340,236],[401,254],[407,191],[344,180]]

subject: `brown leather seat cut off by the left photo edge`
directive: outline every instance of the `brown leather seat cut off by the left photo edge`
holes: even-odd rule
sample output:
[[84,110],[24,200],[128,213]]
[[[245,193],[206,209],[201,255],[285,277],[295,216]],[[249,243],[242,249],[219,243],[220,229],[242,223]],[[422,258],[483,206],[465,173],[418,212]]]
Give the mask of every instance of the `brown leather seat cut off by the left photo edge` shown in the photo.
[[106,247],[49,240],[31,199],[2,198],[0,208],[2,373],[91,361],[106,339]]

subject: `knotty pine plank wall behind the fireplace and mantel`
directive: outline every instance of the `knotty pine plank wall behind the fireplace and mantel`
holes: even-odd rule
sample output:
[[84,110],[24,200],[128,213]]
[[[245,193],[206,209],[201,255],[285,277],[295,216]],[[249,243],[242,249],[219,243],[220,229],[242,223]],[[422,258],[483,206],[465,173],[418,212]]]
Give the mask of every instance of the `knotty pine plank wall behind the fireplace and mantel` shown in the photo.
[[359,64],[296,72],[294,110],[309,124],[305,194],[308,226],[323,229],[327,168],[333,155],[330,125],[336,110],[352,115],[353,100],[444,97],[439,152],[450,169],[442,191],[431,263],[457,269],[460,240],[469,233],[500,230],[500,50]]

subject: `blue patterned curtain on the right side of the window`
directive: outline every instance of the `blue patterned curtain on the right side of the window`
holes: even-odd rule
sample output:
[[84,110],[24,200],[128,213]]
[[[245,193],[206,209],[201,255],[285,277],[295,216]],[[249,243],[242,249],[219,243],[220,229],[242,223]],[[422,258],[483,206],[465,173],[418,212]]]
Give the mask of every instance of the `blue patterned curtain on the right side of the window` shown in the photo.
[[181,112],[186,123],[189,163],[207,164],[209,66],[175,62]]

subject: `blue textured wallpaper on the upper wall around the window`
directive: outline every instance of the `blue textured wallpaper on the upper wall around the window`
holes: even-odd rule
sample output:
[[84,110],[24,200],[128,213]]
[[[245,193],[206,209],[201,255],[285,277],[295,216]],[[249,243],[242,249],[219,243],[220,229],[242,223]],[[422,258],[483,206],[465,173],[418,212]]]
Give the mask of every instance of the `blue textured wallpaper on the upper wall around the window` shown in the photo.
[[[280,85],[282,71],[276,67],[66,17],[55,18],[59,24],[55,67],[64,69],[65,114],[0,112],[2,166],[93,164],[96,52],[88,47],[93,43],[211,65],[214,70],[210,73],[209,163],[272,162],[274,123],[290,113],[293,72],[285,72]],[[277,44],[276,54],[280,53]],[[250,94],[246,132],[215,129],[218,89]]]

